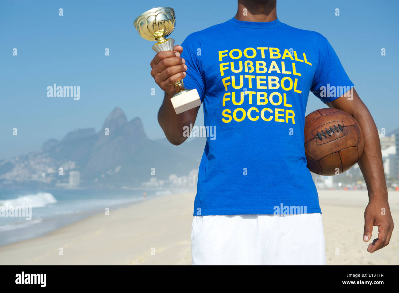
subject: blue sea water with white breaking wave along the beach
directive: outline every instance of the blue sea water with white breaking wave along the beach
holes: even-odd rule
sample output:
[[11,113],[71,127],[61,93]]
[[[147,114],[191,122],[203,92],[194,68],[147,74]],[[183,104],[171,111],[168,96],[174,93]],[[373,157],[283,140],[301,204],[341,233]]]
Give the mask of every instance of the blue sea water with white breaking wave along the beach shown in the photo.
[[[0,189],[0,246],[44,235],[92,214],[143,201],[142,190]],[[159,195],[146,191],[146,199]],[[7,210],[5,210],[7,207]],[[31,210],[21,216],[18,209]],[[14,212],[12,212],[14,209]]]

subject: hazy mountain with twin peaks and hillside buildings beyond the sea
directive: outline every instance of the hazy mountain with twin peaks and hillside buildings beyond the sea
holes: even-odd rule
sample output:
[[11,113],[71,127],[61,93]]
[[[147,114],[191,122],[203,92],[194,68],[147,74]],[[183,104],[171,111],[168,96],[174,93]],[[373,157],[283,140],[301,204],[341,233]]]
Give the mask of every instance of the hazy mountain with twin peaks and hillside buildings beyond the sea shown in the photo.
[[140,118],[115,108],[98,132],[75,129],[38,151],[0,161],[0,187],[134,188],[193,186],[205,138],[181,146],[150,140]]

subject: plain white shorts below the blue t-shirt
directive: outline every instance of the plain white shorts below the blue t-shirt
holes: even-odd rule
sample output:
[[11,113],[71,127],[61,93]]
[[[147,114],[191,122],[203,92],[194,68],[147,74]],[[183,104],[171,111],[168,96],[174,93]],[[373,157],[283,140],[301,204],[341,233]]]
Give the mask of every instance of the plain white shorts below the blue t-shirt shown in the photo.
[[194,216],[193,265],[325,265],[322,215]]

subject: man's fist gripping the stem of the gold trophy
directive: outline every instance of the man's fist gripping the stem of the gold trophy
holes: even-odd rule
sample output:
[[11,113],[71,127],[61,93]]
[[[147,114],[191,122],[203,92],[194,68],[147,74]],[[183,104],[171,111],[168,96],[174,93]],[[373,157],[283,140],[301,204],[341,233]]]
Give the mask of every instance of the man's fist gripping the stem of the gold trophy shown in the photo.
[[182,46],[174,46],[174,51],[161,51],[156,53],[151,61],[151,75],[156,84],[170,96],[176,94],[174,84],[186,76],[187,65],[180,54],[183,52]]

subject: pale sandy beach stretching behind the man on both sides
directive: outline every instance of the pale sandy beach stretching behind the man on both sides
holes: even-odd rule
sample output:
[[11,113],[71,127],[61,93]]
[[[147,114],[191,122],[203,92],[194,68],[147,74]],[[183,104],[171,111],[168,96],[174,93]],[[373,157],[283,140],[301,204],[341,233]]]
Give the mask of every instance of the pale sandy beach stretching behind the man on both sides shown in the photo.
[[[49,234],[0,247],[2,265],[191,265],[194,193],[111,209]],[[319,191],[328,265],[397,265],[399,233],[370,254],[363,242],[366,191]],[[399,192],[391,191],[399,220]],[[376,238],[374,228],[373,239]],[[62,250],[63,254],[60,255]]]

